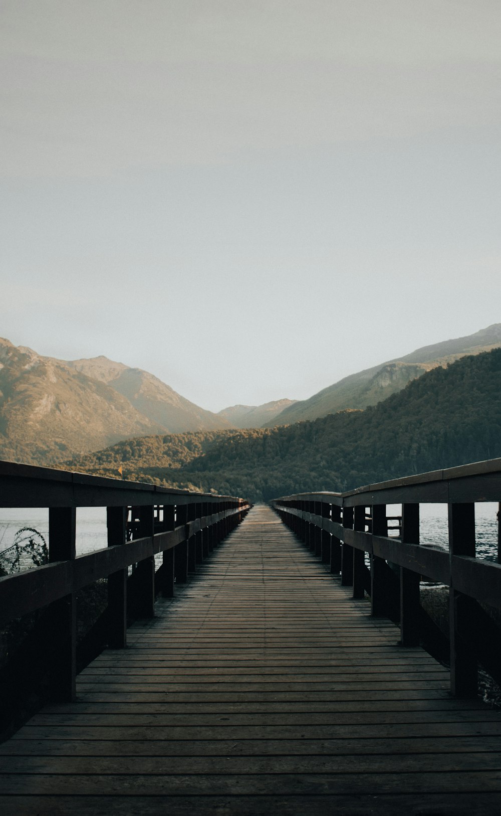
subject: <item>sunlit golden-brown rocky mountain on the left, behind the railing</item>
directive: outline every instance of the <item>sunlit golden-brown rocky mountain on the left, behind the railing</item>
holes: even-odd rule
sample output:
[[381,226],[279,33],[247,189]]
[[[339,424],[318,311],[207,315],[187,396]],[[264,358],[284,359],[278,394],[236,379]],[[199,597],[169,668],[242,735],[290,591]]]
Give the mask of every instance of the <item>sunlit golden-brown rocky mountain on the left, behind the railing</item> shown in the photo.
[[0,339],[0,458],[51,464],[130,437],[228,428],[146,371]]

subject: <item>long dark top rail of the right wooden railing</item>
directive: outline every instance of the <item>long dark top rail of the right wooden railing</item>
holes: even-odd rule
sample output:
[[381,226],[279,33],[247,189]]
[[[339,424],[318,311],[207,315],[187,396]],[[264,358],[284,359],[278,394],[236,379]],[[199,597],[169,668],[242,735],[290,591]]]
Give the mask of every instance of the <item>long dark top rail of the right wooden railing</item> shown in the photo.
[[[482,478],[483,477],[483,478]],[[481,502],[501,499],[501,459],[486,459],[455,468],[433,470],[373,485],[356,487],[345,493],[297,493],[275,499],[285,501],[323,501],[332,504],[407,502]]]

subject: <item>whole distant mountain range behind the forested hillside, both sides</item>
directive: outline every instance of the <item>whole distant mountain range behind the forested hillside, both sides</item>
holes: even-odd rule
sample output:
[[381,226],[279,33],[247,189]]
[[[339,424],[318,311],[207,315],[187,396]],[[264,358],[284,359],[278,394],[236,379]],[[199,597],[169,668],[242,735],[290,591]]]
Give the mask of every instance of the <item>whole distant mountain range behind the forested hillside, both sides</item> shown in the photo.
[[43,357],[0,339],[0,458],[56,464],[152,434],[272,428],[385,400],[437,366],[501,346],[501,324],[425,346],[323,388],[308,400],[204,410],[147,371],[107,357]]

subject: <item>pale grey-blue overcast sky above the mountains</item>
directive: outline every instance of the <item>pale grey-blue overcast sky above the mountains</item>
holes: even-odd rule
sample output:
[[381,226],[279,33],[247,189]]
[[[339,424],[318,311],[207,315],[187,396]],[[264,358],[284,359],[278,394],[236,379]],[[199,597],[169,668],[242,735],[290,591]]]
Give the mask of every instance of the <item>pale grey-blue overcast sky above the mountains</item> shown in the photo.
[[0,336],[220,410],[501,322],[499,0],[0,18]]

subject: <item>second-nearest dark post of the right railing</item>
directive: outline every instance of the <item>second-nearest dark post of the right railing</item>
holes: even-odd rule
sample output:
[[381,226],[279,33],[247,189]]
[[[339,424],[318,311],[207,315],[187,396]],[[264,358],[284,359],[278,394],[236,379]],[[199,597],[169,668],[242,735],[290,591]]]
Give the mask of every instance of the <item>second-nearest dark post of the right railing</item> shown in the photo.
[[[420,505],[402,504],[402,543],[420,543]],[[400,567],[400,642],[420,645],[420,574]]]

